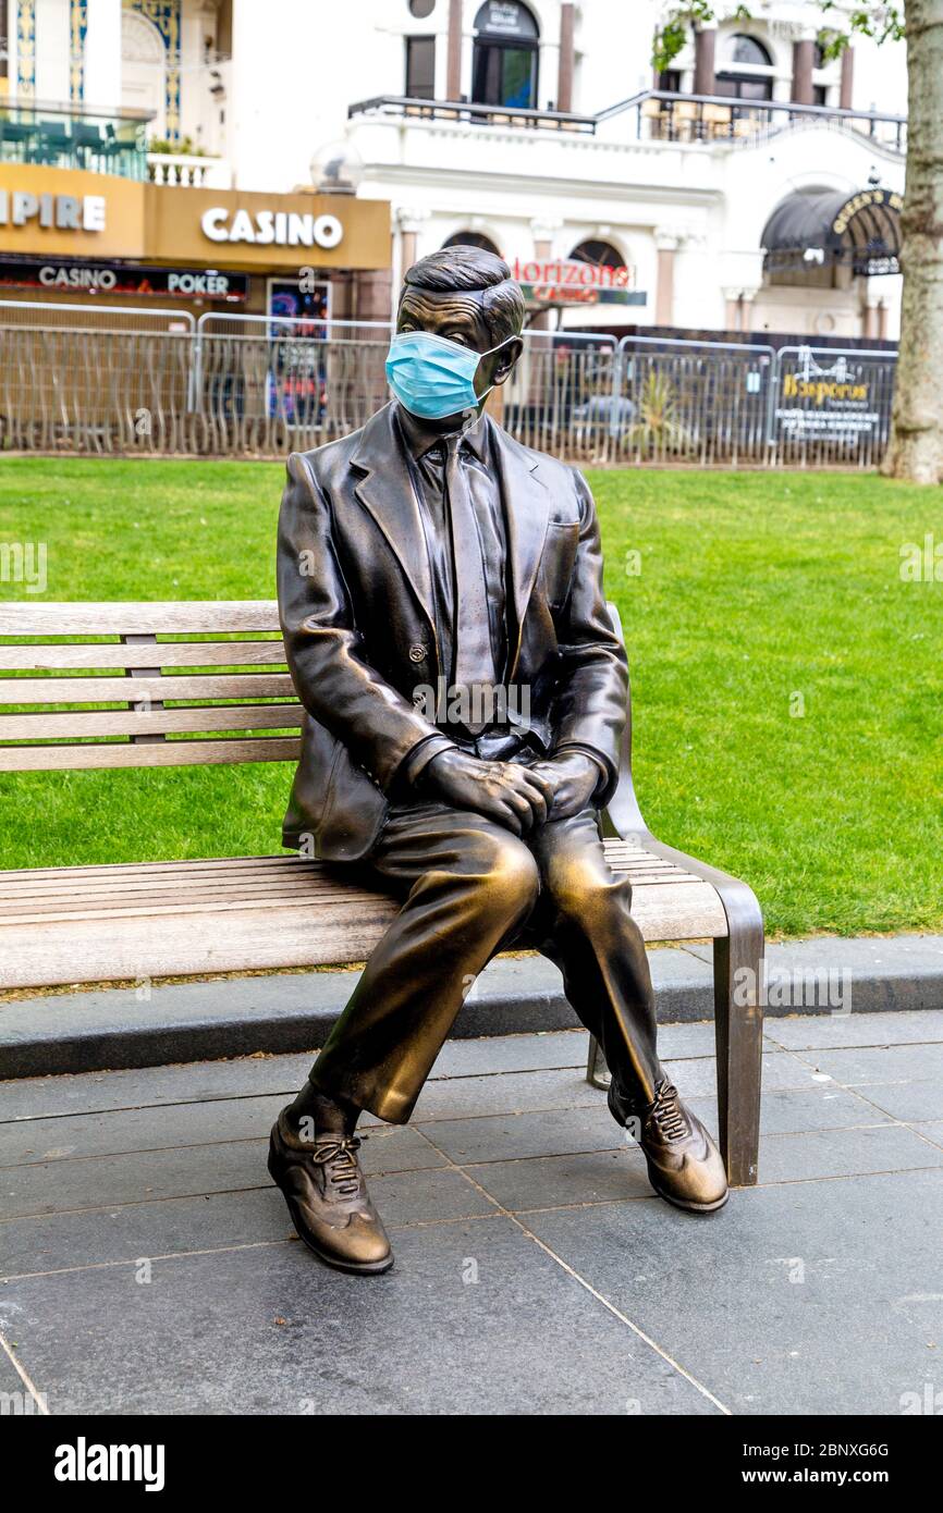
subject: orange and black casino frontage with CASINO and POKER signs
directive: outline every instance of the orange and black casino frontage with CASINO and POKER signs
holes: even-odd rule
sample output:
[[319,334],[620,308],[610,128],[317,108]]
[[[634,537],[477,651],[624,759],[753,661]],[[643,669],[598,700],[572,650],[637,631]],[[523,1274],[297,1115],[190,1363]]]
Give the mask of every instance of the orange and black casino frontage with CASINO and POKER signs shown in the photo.
[[3,300],[369,321],[389,268],[386,201],[0,163]]

